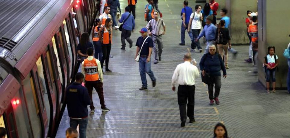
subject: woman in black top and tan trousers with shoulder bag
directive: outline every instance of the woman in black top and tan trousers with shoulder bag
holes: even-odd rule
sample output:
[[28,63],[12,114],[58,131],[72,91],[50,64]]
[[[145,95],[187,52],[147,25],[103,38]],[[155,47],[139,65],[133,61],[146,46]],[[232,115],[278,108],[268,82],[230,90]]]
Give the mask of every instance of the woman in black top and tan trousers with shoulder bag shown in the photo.
[[215,40],[218,44],[218,52],[221,57],[224,57],[224,66],[228,69],[228,49],[231,48],[229,29],[224,27],[225,22],[221,20],[218,23],[217,31],[215,32]]

